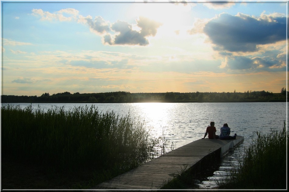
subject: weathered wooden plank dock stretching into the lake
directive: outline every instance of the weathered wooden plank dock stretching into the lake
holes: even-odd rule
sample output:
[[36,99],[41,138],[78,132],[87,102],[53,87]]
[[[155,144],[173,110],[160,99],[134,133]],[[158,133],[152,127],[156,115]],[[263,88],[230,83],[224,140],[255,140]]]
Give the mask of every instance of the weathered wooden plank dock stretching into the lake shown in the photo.
[[184,167],[193,167],[203,159],[214,161],[243,140],[242,136],[237,136],[235,140],[196,140],[105,181],[94,189],[160,189],[169,179],[173,179],[174,173],[181,173]]

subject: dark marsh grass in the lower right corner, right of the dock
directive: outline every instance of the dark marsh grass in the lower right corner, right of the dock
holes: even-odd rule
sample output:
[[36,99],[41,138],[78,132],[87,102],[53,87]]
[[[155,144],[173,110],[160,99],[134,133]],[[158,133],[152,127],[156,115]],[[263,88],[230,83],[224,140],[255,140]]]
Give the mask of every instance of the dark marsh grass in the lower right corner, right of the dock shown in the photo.
[[233,164],[229,175],[216,183],[224,189],[286,189],[288,138],[285,121],[282,131],[257,132],[238,165]]

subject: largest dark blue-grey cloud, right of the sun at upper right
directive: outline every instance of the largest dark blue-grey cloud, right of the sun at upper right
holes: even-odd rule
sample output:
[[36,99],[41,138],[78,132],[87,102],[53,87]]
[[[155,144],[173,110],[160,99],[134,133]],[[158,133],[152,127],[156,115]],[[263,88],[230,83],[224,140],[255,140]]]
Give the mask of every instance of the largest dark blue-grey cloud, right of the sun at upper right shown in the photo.
[[286,39],[286,18],[255,19],[248,15],[232,16],[224,13],[208,22],[204,32],[216,45],[215,50],[256,51],[256,45]]

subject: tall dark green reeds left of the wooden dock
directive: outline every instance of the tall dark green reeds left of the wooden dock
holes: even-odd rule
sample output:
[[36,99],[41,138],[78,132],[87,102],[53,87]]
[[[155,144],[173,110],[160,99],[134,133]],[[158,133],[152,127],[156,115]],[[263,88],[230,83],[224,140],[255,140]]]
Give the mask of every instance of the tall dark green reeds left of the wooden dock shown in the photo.
[[64,184],[64,188],[89,188],[173,147],[164,136],[150,138],[143,123],[130,114],[102,113],[95,106],[68,111],[55,107],[47,112],[31,105],[3,106],[1,131],[2,157],[46,167],[53,174],[93,175],[86,187]]

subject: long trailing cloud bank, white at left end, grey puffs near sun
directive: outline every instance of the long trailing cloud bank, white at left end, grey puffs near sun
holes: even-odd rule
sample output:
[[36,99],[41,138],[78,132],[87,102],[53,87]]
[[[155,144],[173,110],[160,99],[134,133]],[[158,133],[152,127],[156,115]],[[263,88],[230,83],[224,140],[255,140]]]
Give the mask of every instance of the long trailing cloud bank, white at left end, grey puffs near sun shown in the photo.
[[[101,16],[86,17],[79,15],[79,11],[73,8],[61,9],[60,11],[50,13],[42,9],[33,9],[32,14],[40,16],[41,20],[58,20],[58,21],[77,21],[78,23],[89,26],[90,31],[103,36],[103,44],[107,45],[148,45],[148,36],[155,36],[157,29],[162,24],[151,19],[140,17],[137,27],[140,31],[134,30],[133,25],[125,21],[118,20],[110,25]],[[77,18],[78,17],[78,18]]]

